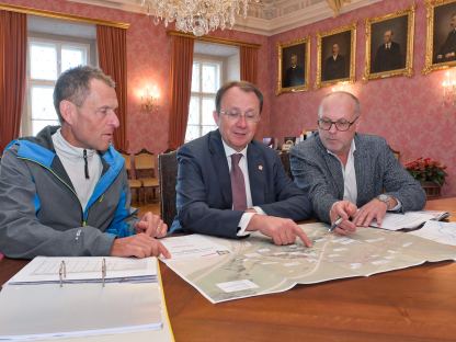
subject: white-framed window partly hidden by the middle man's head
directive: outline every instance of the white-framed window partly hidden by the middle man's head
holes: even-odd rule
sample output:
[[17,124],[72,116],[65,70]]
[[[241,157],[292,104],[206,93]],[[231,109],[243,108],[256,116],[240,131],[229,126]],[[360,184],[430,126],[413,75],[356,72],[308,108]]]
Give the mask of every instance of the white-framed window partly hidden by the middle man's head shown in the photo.
[[217,59],[193,60],[192,94],[185,142],[217,128],[213,118],[215,95],[221,84],[223,62]]

